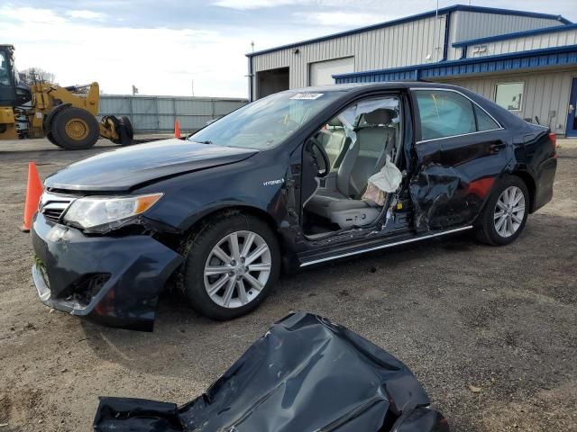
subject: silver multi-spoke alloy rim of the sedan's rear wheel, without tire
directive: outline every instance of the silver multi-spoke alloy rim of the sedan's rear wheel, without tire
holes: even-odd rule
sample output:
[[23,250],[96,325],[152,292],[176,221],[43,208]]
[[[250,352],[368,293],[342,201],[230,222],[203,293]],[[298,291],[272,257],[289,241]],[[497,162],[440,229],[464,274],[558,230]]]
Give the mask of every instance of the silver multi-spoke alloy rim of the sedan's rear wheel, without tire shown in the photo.
[[495,230],[500,237],[514,235],[525,217],[525,195],[517,186],[509,186],[500,195],[493,215]]

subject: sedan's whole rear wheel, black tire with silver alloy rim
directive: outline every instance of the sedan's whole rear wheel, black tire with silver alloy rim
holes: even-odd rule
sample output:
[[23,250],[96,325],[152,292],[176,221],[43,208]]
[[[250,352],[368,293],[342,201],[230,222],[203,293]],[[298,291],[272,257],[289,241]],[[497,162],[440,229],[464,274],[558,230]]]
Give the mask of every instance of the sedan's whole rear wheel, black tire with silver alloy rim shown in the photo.
[[512,243],[525,227],[528,204],[529,193],[523,180],[514,175],[503,178],[481,214],[477,238],[494,246]]

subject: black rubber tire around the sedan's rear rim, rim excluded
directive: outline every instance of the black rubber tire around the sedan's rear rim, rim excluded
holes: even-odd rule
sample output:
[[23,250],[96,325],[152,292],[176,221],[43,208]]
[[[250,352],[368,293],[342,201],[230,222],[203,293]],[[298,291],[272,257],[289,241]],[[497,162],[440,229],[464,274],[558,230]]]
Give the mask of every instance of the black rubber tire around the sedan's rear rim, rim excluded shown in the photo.
[[[495,211],[497,208],[497,202],[501,193],[511,186],[515,186],[523,193],[523,199],[525,202],[525,212],[521,223],[519,224],[517,230],[508,237],[503,237],[499,234],[497,228],[495,227]],[[498,180],[495,184],[493,190],[490,193],[489,200],[486,202],[479,219],[475,223],[475,237],[482,243],[491,246],[505,246],[517,239],[521,234],[521,231],[525,228],[527,223],[527,216],[529,214],[529,191],[527,189],[527,184],[521,180],[516,175],[508,175]]]

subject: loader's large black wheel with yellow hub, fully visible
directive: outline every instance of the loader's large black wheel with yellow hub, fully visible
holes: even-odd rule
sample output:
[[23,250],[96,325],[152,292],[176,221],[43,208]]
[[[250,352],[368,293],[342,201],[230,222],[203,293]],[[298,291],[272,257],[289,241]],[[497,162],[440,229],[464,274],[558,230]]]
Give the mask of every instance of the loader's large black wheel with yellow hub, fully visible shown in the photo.
[[90,112],[82,108],[70,107],[54,115],[50,124],[50,133],[56,145],[61,148],[86,150],[96,144],[100,136],[100,128],[96,117]]

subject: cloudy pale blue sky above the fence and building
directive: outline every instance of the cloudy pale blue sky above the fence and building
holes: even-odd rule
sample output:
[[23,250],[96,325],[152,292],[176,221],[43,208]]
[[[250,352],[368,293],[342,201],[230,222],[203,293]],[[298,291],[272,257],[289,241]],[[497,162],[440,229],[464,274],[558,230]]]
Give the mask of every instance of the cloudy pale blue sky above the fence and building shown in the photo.
[[[576,0],[473,0],[473,5],[562,14]],[[440,6],[462,2],[441,0]],[[20,69],[60,85],[98,81],[108,94],[242,96],[256,50],[435,9],[435,0],[11,0],[0,2],[0,43]]]

